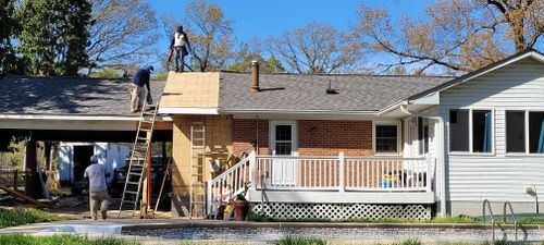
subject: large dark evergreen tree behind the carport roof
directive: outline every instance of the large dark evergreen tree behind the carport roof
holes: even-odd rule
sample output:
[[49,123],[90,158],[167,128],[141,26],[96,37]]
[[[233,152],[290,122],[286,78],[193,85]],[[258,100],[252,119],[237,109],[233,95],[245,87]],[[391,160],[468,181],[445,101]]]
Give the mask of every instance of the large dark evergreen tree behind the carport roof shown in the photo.
[[23,0],[16,35],[27,73],[77,75],[87,65],[91,5],[87,0]]

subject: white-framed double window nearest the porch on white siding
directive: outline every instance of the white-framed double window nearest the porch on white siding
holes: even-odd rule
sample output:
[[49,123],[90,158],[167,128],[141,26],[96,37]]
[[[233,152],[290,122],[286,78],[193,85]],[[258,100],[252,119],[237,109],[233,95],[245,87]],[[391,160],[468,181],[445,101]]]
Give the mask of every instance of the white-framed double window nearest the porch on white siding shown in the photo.
[[491,110],[449,110],[449,150],[492,151]]

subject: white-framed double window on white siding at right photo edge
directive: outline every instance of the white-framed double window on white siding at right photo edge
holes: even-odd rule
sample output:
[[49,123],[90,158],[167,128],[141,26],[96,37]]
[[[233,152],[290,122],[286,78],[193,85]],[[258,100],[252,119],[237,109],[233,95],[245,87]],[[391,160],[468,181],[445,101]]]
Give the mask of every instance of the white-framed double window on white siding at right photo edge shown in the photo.
[[544,111],[506,111],[506,152],[544,154]]

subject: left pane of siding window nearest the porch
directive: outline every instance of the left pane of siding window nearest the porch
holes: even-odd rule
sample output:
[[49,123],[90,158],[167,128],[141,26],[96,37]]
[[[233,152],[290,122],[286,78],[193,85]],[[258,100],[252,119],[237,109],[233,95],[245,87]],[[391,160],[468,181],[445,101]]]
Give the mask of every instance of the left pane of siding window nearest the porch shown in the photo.
[[449,111],[449,149],[469,151],[469,111]]

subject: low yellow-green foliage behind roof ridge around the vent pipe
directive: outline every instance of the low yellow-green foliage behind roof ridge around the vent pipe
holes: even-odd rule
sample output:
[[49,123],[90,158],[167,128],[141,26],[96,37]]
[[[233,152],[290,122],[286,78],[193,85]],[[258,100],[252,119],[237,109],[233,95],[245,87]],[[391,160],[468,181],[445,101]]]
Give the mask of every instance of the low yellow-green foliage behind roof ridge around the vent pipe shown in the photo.
[[258,53],[250,53],[246,54],[242,58],[239,62],[232,63],[228,65],[230,71],[235,71],[235,72],[249,72],[251,71],[251,62],[256,60],[259,62],[259,71],[261,73],[283,73],[285,72],[285,69],[283,68],[282,63],[275,59],[274,57],[271,57],[269,59],[264,59],[261,54]]

